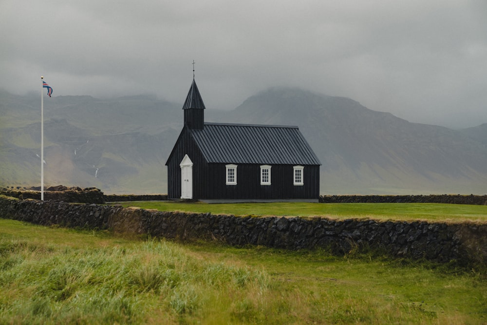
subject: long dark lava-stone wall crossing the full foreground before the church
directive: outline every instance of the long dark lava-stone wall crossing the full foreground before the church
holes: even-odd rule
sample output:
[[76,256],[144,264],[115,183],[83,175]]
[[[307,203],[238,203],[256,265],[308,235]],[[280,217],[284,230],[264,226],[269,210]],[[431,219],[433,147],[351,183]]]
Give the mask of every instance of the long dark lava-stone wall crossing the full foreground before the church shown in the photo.
[[217,240],[229,245],[284,249],[382,249],[394,257],[441,263],[487,263],[487,224],[238,217],[178,211],[125,209],[96,204],[18,200],[0,196],[0,216],[40,225],[60,225],[148,234],[177,240]]

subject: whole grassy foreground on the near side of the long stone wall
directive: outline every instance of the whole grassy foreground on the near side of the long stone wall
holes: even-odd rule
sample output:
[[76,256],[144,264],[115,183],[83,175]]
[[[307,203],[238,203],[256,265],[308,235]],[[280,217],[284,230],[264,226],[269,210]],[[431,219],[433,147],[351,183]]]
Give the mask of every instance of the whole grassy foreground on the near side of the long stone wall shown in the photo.
[[0,324],[485,324],[486,285],[426,262],[0,219]]

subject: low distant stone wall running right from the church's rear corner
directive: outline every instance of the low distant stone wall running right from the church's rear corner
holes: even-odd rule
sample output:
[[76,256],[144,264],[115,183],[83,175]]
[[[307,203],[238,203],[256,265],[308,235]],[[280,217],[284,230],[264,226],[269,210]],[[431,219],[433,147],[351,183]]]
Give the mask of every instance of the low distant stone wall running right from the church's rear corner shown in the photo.
[[487,205],[487,195],[323,195],[320,203],[448,203]]

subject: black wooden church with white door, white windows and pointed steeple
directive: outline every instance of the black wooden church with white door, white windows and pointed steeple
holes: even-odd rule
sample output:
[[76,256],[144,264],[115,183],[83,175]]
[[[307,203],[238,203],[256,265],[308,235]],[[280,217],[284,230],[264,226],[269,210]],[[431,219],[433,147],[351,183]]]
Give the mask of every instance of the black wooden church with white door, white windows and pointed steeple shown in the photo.
[[183,111],[169,199],[318,202],[320,162],[297,126],[205,123],[194,78]]

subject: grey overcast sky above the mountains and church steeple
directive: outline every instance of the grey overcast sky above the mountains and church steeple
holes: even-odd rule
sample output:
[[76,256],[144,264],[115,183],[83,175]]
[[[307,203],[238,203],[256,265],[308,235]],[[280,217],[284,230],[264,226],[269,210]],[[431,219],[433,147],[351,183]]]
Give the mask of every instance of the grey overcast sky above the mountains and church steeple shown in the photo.
[[[275,86],[487,123],[486,0],[0,0],[0,88],[234,109]],[[299,108],[297,108],[299,109]]]

